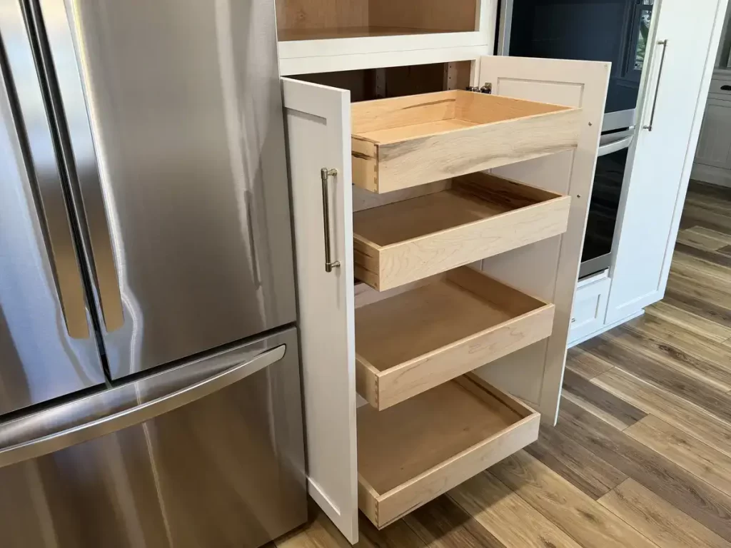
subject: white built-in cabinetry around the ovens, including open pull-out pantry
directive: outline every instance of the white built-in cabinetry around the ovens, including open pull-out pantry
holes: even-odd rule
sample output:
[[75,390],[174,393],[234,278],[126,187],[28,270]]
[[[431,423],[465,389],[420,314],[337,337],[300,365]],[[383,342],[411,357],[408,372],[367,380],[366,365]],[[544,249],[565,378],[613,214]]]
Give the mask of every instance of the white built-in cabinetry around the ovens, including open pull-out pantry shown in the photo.
[[726,1],[662,0],[616,262],[577,293],[608,64],[489,56],[493,0],[277,1],[308,491],[349,541],[534,441],[567,341],[662,296]]

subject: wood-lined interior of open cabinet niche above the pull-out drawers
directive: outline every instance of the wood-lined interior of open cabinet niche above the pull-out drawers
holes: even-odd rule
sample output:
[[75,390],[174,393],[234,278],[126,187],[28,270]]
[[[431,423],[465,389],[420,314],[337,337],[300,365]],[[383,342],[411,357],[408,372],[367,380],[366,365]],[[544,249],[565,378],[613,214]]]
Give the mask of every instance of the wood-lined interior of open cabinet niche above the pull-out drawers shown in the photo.
[[276,0],[279,40],[477,30],[479,0]]

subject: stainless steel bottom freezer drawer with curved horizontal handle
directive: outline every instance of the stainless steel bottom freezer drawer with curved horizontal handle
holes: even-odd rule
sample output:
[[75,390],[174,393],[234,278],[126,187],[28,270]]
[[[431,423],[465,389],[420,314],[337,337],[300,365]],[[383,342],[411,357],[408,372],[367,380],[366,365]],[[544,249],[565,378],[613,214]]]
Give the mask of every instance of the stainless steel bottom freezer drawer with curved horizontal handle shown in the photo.
[[306,520],[297,333],[0,425],[0,466],[4,548],[265,544]]

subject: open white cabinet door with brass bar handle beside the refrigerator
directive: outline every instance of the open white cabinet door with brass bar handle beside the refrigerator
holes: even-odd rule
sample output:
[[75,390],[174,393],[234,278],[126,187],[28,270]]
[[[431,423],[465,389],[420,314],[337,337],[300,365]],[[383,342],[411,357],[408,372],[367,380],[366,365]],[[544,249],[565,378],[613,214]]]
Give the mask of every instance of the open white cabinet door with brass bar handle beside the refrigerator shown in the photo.
[[[308,492],[346,538],[357,542],[355,311],[353,295],[350,94],[282,79],[295,254]],[[327,178],[325,211],[320,170]],[[325,268],[325,215],[330,253]]]

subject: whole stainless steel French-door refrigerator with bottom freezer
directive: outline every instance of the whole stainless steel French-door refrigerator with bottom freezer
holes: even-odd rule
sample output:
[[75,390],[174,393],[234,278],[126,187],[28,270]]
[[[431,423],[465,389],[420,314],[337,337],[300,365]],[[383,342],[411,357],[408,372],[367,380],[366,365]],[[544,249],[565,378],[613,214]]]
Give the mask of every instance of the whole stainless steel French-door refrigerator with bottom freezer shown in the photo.
[[0,545],[306,517],[271,0],[0,0]]

